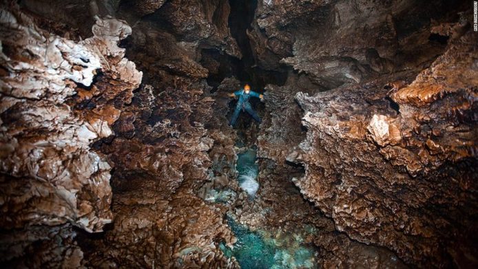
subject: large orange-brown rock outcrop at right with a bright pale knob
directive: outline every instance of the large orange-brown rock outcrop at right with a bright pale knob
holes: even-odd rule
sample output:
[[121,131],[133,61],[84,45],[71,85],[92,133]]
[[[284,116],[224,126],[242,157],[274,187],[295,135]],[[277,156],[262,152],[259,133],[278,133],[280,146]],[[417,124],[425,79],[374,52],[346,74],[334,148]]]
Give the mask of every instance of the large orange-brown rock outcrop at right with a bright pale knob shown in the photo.
[[451,41],[411,83],[296,95],[308,129],[296,184],[338,230],[410,263],[476,263],[476,37]]

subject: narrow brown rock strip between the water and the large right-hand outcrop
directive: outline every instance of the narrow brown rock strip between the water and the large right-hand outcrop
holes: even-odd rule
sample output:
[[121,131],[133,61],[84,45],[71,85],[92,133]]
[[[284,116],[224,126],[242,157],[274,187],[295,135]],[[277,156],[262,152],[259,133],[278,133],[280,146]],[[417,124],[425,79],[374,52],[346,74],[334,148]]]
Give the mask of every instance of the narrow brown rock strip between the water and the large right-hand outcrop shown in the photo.
[[[264,94],[266,113],[258,137],[261,164],[260,193],[253,206],[243,206],[240,221],[252,228],[273,227],[274,233],[297,233],[318,247],[315,263],[324,268],[364,266],[366,268],[405,268],[393,252],[352,241],[335,233],[333,220],[318,208],[302,200],[293,182],[302,176],[302,167],[292,162],[302,160],[298,144],[306,130],[297,120],[302,109],[291,97],[293,93],[314,94],[318,89],[306,76],[289,75],[282,87],[269,85]],[[263,213],[266,211],[267,213]],[[312,234],[304,231],[314,227]]]

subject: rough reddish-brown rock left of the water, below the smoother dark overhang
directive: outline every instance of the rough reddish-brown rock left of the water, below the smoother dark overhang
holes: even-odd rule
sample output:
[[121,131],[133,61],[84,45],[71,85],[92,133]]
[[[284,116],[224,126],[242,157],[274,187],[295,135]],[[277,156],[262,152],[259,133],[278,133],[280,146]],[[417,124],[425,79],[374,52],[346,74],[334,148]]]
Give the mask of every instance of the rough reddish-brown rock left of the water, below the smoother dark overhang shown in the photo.
[[114,225],[101,241],[79,237],[86,264],[236,268],[218,248],[222,240],[229,246],[235,241],[223,221],[227,207],[196,194],[211,188],[214,178],[235,173],[236,156],[227,147],[234,135],[227,120],[216,117],[227,103],[202,95],[208,88],[197,78],[163,73],[155,85],[141,87],[123,109],[115,128],[127,130],[119,132],[125,137],[101,145],[115,168]]

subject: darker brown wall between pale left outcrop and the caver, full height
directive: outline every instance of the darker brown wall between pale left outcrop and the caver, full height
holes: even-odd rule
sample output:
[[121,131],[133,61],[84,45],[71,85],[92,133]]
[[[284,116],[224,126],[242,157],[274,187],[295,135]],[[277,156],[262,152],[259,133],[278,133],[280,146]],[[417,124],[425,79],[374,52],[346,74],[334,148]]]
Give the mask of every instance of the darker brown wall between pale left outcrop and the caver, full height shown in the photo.
[[[225,39],[222,47],[218,34],[227,31],[208,24],[215,8],[227,18],[220,6],[227,1],[215,4],[165,3],[138,22],[126,42],[147,83],[122,109],[116,137],[97,143],[114,164],[114,222],[101,239],[79,236],[87,266],[238,267],[219,249],[221,241],[231,246],[235,240],[223,217],[227,206],[202,199],[235,174],[227,98],[222,89],[210,94],[203,80],[209,70],[198,63],[202,46],[229,51],[236,44]],[[164,21],[176,24],[166,29]],[[187,23],[194,30],[184,28]]]

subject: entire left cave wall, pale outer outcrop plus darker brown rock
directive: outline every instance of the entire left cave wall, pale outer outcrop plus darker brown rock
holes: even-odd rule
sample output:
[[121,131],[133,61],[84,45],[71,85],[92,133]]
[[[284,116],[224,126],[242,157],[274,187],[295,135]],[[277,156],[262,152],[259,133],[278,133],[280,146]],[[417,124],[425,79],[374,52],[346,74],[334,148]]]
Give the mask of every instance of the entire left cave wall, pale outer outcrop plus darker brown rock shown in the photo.
[[[185,10],[169,1],[174,17],[153,14],[128,39],[125,21],[98,19],[84,41],[85,25],[65,30],[77,25],[74,15],[55,14],[48,1],[27,3],[28,15],[2,6],[3,265],[237,267],[218,248],[235,240],[227,207],[206,204],[198,191],[235,174],[228,98],[209,94],[209,70],[196,62],[200,47],[240,56],[227,3]],[[183,28],[191,16],[192,31]],[[183,26],[160,28],[179,17]],[[144,78],[123,58],[129,45]],[[149,84],[139,87],[142,79]]]

